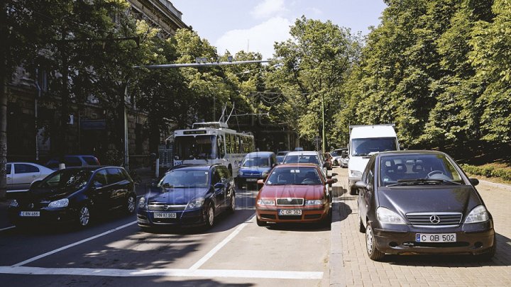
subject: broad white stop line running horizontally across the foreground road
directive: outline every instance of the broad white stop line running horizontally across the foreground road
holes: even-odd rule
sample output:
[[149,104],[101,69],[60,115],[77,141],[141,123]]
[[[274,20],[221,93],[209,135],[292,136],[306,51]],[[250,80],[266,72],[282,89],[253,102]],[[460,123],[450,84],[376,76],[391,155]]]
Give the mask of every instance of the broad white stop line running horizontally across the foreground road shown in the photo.
[[321,279],[323,272],[225,269],[92,269],[0,266],[0,274],[77,275],[107,277],[173,276],[217,278]]

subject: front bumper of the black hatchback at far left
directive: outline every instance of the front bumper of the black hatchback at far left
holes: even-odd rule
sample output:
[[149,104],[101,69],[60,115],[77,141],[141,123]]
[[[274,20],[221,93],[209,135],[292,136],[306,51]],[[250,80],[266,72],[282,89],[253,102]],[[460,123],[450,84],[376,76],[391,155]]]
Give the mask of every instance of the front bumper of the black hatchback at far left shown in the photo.
[[[21,211],[38,211],[39,216],[21,216]],[[25,210],[9,208],[7,216],[13,225],[53,225],[69,223],[77,220],[78,211],[74,208],[41,208],[38,210]]]

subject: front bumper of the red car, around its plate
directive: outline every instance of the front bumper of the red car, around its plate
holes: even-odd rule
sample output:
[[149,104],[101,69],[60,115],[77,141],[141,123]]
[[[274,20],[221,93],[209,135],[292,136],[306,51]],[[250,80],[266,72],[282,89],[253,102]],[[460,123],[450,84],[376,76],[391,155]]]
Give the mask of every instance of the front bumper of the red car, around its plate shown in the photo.
[[[278,215],[280,209],[302,210],[302,215]],[[329,204],[310,208],[256,208],[258,220],[268,223],[315,223],[324,220],[329,214]]]

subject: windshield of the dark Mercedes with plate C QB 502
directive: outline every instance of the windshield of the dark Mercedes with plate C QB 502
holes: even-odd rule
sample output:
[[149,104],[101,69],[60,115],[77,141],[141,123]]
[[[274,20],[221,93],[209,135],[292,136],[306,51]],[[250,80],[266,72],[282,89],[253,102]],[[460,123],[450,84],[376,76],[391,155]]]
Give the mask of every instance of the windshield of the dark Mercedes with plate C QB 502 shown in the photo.
[[463,184],[443,154],[400,154],[380,158],[380,186]]

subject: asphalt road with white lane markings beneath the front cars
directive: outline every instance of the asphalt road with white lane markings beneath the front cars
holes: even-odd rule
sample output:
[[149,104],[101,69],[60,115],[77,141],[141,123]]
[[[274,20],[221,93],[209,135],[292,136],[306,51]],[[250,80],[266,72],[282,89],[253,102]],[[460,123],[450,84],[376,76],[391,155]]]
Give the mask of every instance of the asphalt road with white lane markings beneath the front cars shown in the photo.
[[[328,286],[330,230],[255,224],[255,190],[210,230],[143,232],[112,213],[85,230],[0,227],[2,286]],[[143,193],[139,188],[138,193]],[[0,224],[6,225],[4,221]]]

